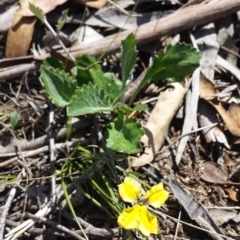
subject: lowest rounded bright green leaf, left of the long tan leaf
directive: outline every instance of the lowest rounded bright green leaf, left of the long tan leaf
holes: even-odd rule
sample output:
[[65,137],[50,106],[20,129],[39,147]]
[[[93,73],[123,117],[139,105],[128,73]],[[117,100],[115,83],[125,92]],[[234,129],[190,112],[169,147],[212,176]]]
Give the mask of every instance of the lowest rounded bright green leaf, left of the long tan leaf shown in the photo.
[[123,120],[118,117],[107,126],[107,147],[127,154],[138,153],[142,150],[140,139],[143,134],[142,126],[135,118]]

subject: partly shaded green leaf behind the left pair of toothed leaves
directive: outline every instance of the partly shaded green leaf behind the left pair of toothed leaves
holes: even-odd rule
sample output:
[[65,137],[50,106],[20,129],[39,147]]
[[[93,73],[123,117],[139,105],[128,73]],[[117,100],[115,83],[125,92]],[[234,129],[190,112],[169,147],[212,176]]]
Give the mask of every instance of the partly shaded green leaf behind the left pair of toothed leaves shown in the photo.
[[78,86],[89,82],[102,88],[108,93],[110,100],[114,100],[122,90],[122,83],[112,73],[103,73],[97,60],[89,55],[78,57],[75,63],[77,66],[71,73],[77,79]]

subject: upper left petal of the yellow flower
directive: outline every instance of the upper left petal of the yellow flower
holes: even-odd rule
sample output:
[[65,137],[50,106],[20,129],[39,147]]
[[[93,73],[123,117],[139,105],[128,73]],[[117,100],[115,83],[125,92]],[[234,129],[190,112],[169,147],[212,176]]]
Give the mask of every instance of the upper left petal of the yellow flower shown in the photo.
[[125,202],[134,203],[142,194],[142,188],[133,178],[126,177],[124,182],[118,185],[118,191]]

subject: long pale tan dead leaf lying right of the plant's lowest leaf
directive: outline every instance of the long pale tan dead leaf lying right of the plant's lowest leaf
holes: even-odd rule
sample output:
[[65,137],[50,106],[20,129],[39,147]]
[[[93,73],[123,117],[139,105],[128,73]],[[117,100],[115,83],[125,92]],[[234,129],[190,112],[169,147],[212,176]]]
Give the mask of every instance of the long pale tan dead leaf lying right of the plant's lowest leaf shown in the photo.
[[158,101],[145,126],[145,135],[142,137],[145,152],[136,159],[132,166],[140,167],[153,161],[168,133],[169,125],[180,107],[186,88],[180,83],[173,83],[174,89],[161,92]]

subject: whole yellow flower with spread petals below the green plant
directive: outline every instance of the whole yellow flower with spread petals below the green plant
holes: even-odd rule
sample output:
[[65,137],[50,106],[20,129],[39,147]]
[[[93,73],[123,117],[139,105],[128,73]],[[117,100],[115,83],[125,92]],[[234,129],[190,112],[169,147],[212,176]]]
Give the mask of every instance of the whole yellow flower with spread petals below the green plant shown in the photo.
[[[126,177],[124,182],[118,185],[118,190],[125,202],[136,203],[141,200],[143,204],[152,205],[155,208],[161,207],[169,195],[164,190],[163,184],[159,183],[141,197],[143,189],[130,177]],[[149,236],[151,233],[157,234],[157,217],[150,213],[145,205],[135,204],[133,207],[125,208],[118,217],[119,226],[127,230],[138,229],[144,236]]]

